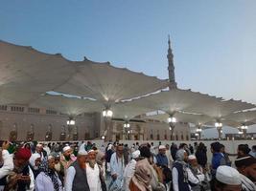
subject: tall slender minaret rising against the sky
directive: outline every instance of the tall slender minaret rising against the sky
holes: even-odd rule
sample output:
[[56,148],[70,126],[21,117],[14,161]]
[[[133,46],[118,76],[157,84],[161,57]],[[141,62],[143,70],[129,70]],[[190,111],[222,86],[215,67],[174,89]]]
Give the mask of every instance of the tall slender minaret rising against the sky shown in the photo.
[[175,65],[174,65],[174,54],[171,49],[170,35],[168,35],[168,71],[169,71],[169,89],[176,89],[175,82]]

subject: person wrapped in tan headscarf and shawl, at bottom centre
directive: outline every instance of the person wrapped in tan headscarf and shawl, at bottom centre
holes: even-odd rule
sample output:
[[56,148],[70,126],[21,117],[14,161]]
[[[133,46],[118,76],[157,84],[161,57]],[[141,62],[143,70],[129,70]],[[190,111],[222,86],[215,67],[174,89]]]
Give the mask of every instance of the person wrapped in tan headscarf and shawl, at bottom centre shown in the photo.
[[148,159],[137,161],[134,175],[129,182],[131,191],[151,191],[151,164]]

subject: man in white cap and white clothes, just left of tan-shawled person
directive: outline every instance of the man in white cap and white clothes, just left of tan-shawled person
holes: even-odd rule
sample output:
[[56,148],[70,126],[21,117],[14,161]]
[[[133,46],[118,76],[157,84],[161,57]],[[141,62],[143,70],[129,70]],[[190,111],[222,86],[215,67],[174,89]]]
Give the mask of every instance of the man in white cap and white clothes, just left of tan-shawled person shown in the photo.
[[140,157],[140,151],[139,150],[134,151],[131,154],[132,159],[128,162],[128,165],[125,168],[123,187],[124,187],[124,190],[126,190],[126,191],[129,191],[129,187],[128,187],[129,181],[132,178],[132,176],[134,175],[135,166],[136,166],[137,161],[139,160],[139,157]]

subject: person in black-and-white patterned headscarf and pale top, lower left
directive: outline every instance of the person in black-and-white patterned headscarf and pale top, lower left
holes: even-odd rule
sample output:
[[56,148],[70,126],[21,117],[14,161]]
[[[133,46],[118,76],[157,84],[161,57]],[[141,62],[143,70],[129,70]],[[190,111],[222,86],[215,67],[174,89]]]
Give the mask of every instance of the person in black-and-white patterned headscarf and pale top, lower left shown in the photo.
[[62,183],[55,171],[55,158],[49,155],[43,159],[40,166],[40,173],[35,179],[35,191],[62,191]]

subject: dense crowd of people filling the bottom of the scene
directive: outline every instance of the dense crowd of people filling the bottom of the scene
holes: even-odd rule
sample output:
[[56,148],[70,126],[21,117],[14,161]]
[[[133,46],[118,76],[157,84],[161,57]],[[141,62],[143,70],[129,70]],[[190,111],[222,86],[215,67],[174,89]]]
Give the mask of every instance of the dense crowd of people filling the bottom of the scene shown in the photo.
[[256,145],[1,144],[0,191],[256,191]]

